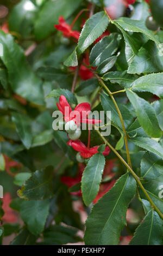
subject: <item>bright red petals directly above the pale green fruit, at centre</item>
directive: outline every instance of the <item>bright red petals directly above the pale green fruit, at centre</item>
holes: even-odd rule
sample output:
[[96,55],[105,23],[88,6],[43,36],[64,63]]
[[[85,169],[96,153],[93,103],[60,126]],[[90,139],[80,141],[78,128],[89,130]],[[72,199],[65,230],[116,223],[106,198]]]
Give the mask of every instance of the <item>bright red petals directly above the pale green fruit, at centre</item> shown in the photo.
[[68,104],[67,99],[64,95],[59,98],[59,103],[57,103],[59,111],[64,115],[64,120],[66,122],[74,120],[77,125],[79,123],[100,123],[101,120],[89,119],[87,116],[91,112],[91,106],[89,103],[80,103],[72,111],[70,104]]

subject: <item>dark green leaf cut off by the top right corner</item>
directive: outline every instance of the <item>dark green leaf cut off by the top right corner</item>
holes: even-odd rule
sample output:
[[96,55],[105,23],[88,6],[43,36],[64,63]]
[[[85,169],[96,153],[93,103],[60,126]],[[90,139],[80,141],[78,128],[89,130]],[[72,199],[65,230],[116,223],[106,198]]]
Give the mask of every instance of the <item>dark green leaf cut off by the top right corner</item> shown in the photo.
[[163,1],[162,0],[151,0],[150,7],[154,20],[160,27],[163,27]]

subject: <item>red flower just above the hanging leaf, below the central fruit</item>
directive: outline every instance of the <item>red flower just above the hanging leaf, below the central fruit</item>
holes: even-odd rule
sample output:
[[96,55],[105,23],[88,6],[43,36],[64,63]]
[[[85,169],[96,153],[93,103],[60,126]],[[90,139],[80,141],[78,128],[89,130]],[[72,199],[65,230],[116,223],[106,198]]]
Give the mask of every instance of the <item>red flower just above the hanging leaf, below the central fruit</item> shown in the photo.
[[[91,147],[91,148],[87,148],[82,141],[80,140],[69,140],[67,142],[67,145],[70,145],[73,147],[74,150],[80,152],[80,155],[83,158],[90,158],[93,156],[93,154],[96,154],[98,152],[98,147],[99,146],[95,146],[95,147]],[[104,156],[107,156],[110,153],[110,148],[108,146],[105,147],[105,150],[103,152]]]

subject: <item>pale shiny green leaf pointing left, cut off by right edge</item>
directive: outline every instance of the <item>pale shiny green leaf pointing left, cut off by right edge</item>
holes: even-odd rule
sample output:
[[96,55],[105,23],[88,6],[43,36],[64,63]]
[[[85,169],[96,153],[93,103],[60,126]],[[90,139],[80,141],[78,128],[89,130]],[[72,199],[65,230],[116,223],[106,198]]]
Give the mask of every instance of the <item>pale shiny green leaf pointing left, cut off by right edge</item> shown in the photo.
[[141,76],[131,84],[134,92],[151,92],[163,98],[163,73]]

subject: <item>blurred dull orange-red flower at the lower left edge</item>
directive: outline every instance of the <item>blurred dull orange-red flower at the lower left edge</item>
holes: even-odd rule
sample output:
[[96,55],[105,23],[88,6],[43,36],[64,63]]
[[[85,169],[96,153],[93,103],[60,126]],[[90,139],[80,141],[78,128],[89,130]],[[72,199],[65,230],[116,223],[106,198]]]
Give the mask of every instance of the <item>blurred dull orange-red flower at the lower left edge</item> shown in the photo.
[[10,193],[5,193],[4,198],[2,199],[3,205],[2,209],[4,211],[4,216],[3,221],[9,222],[9,223],[14,223],[17,221],[16,216],[14,215],[14,211],[10,208],[10,203],[11,203],[11,196]]

